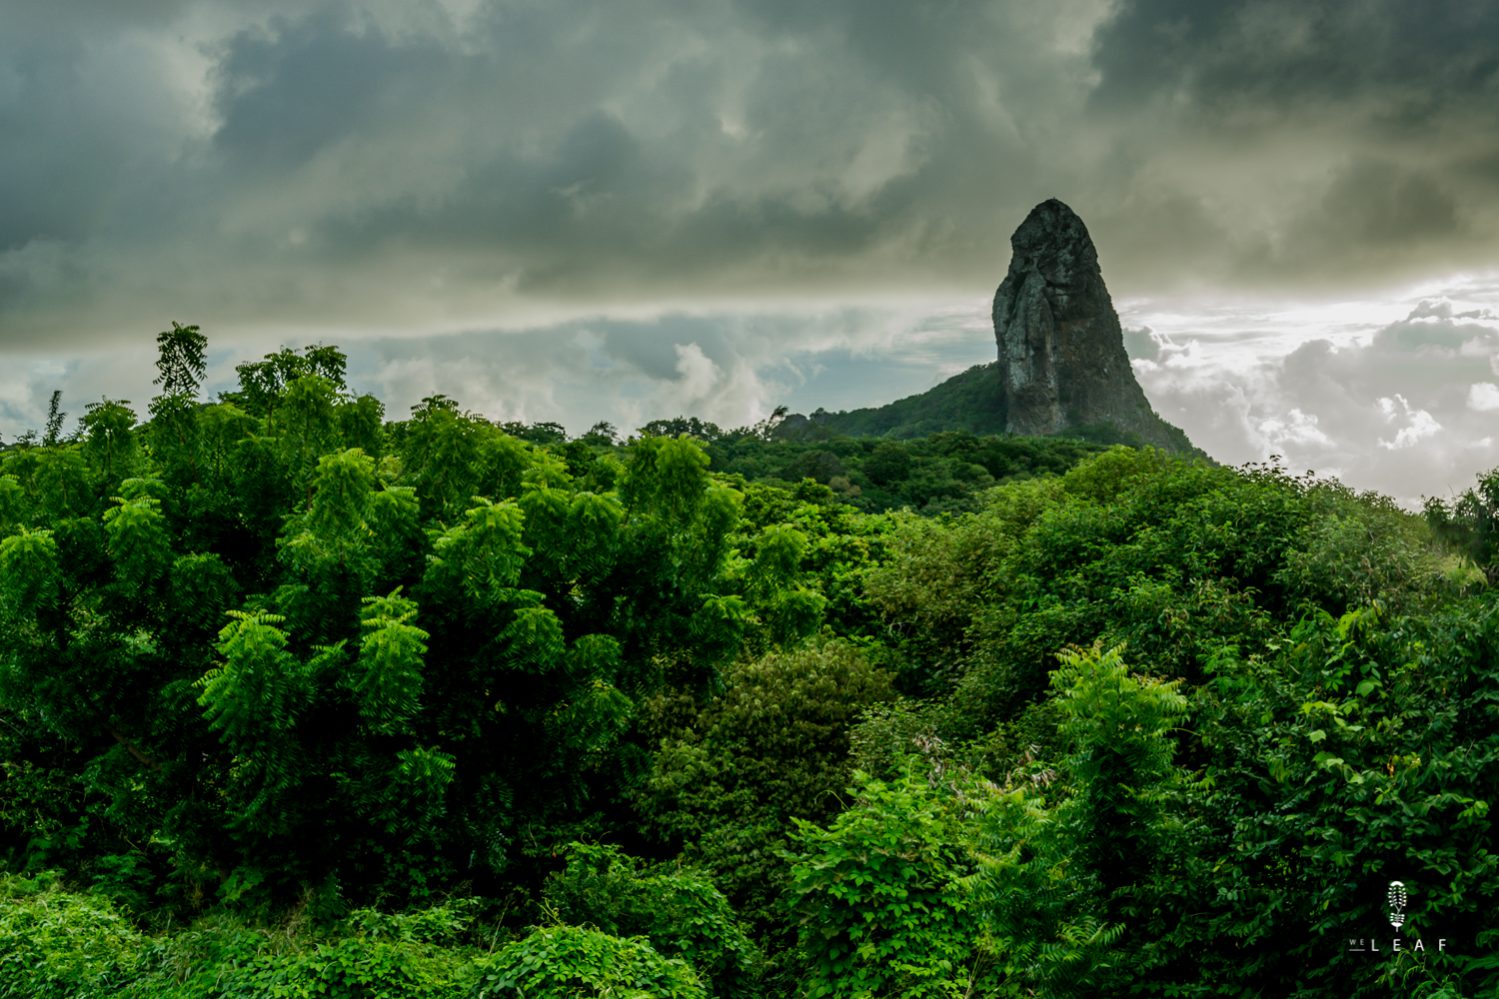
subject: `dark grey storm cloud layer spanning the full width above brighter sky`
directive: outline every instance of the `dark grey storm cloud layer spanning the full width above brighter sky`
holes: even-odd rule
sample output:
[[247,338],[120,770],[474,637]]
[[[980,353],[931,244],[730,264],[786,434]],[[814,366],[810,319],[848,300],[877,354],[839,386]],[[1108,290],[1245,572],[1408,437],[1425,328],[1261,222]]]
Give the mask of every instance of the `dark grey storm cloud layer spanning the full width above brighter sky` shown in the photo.
[[7,340],[163,294],[247,327],[967,291],[1049,195],[1117,291],[1499,236],[1487,3],[106,6],[0,40]]

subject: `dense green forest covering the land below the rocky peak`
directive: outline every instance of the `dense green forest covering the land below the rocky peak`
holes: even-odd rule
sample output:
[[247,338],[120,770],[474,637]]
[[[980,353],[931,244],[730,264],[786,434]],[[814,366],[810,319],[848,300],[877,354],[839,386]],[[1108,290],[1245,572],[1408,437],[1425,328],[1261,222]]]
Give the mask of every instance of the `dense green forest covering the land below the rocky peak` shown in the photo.
[[0,453],[0,996],[1499,994],[1499,472],[157,350]]

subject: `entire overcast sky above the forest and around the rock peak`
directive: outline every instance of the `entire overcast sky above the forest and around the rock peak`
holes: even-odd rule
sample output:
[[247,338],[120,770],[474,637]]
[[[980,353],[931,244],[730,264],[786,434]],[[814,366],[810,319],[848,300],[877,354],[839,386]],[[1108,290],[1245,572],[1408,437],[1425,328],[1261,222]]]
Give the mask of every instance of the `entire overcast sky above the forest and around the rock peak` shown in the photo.
[[1048,196],[1220,460],[1499,465],[1486,0],[3,0],[0,434],[172,320],[391,416],[874,405],[992,360]]

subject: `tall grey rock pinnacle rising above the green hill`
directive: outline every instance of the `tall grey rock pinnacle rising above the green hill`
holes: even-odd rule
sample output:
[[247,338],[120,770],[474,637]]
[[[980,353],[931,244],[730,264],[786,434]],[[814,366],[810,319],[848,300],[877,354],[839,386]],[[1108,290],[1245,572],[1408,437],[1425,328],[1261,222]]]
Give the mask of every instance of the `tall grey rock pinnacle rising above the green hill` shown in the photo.
[[1193,450],[1135,381],[1082,219],[1052,198],[1031,208],[1010,248],[1010,270],[994,296],[1004,429],[1063,434],[1102,423],[1145,444]]

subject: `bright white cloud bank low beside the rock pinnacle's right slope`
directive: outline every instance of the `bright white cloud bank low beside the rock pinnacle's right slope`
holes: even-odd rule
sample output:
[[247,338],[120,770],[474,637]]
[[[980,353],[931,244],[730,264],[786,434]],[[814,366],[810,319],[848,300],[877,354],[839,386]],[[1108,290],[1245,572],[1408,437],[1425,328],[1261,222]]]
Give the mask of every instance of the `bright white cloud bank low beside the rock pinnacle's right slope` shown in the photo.
[[1499,314],[1424,300],[1366,334],[1223,364],[1202,342],[1133,330],[1135,372],[1166,418],[1220,460],[1279,454],[1406,506],[1499,465]]

